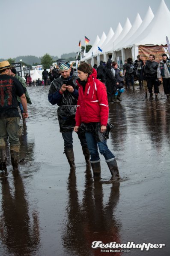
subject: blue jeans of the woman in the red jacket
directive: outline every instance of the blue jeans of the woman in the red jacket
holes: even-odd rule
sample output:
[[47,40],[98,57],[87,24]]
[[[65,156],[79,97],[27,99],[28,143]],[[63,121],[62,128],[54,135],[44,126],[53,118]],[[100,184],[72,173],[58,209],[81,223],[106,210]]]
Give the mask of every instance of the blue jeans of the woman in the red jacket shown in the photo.
[[112,152],[107,147],[107,141],[104,140],[102,142],[96,142],[92,133],[85,133],[87,146],[90,152],[90,161],[99,161],[100,157],[98,154],[98,149],[100,154],[102,154],[107,162],[107,160],[111,160],[115,158]]

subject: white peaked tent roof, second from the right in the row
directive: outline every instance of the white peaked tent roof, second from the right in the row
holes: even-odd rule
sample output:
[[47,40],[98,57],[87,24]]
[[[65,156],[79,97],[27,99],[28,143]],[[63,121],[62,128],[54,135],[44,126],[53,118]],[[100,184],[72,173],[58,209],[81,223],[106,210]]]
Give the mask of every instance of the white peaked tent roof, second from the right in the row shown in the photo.
[[143,19],[142,24],[140,25],[140,27],[137,29],[137,31],[131,36],[131,38],[129,38],[128,42],[126,41],[123,48],[128,47],[129,45],[133,45],[135,39],[143,33],[143,31],[147,28],[147,26],[149,25],[149,23],[152,21],[154,17],[154,14],[152,12],[152,9],[148,8],[148,11],[146,12],[145,18]]

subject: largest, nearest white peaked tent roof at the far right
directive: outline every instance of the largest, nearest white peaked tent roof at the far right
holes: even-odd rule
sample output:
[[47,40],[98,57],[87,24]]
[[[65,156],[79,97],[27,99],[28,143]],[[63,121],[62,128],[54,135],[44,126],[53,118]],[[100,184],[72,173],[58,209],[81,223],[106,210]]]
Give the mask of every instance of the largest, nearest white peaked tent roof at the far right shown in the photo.
[[166,36],[170,38],[170,29],[164,28],[170,24],[170,11],[164,0],[161,1],[158,11],[145,31],[134,41],[134,45],[165,45]]

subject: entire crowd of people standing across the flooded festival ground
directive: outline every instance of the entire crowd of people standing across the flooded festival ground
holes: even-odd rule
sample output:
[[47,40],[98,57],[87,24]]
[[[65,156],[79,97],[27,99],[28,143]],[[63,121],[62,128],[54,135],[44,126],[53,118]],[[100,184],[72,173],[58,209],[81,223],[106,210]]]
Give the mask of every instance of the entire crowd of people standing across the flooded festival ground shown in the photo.
[[[61,61],[49,73],[42,72],[44,84],[50,80],[48,100],[52,105],[58,105],[57,115],[60,133],[64,140],[64,153],[69,162],[70,170],[75,171],[75,156],[73,150],[72,132],[78,134],[88,167],[92,167],[93,176],[101,177],[99,152],[104,156],[111,173],[111,181],[119,181],[119,168],[114,154],[107,147],[107,139],[112,129],[108,123],[109,103],[121,102],[124,89],[134,89],[134,81],[138,80],[139,88],[145,88],[145,97],[149,91],[149,99],[158,100],[159,85],[163,82],[164,94],[169,99],[170,94],[170,60],[166,54],[162,60],[155,62],[155,56],[149,55],[149,60],[143,62],[138,55],[135,62],[131,58],[125,61],[120,70],[117,62],[112,62],[109,56],[107,63],[100,62],[93,68],[87,63],[78,66],[78,72],[68,61]],[[27,85],[32,83],[30,75]],[[19,77],[15,68],[8,61],[0,62],[0,170],[7,176],[6,145],[9,141],[11,162],[14,171],[18,171],[19,136],[22,131],[18,106],[23,120],[28,117],[27,103],[31,104],[26,83]],[[39,80],[37,83],[40,83]],[[124,88],[125,84],[125,88]],[[40,85],[40,84],[39,84]]]

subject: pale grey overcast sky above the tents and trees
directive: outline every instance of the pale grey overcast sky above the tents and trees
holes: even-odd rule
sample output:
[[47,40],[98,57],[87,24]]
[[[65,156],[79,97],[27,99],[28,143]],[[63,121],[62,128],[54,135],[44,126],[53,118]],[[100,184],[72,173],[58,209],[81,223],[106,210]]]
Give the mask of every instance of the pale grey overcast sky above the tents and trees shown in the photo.
[[[164,0],[170,9],[170,0]],[[139,12],[141,19],[149,8],[155,13],[161,0],[1,0],[0,58],[49,53],[78,52],[84,36],[93,44],[110,27],[115,32],[127,17],[131,24]],[[160,21],[161,22],[161,21]],[[162,29],[167,29],[163,25]],[[159,35],[158,35],[159,36]]]

